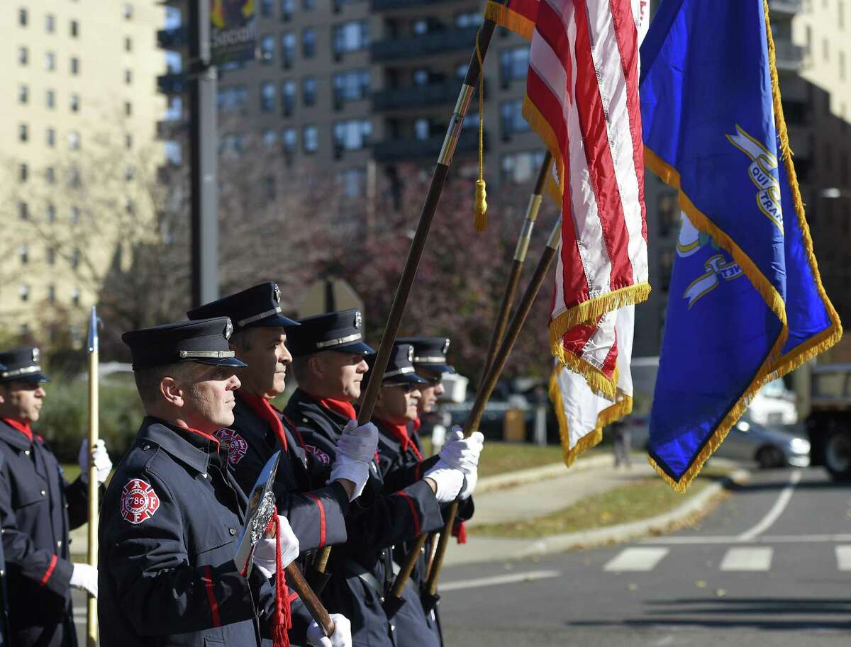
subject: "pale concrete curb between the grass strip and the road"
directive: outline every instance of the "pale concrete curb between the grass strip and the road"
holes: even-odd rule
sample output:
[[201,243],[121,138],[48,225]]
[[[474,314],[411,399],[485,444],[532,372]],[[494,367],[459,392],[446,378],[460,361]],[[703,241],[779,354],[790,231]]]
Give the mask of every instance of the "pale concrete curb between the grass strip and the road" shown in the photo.
[[[578,548],[595,548],[607,544],[625,543],[654,534],[663,534],[671,530],[671,526],[683,524],[697,514],[705,514],[711,508],[714,499],[728,485],[746,480],[751,472],[737,469],[727,478],[706,487],[694,497],[688,497],[678,508],[665,514],[658,514],[649,519],[631,521],[628,524],[612,525],[606,528],[596,528],[590,531],[569,532],[563,535],[543,537],[538,540],[508,539],[500,537],[482,537],[474,542],[480,542],[479,550],[453,551],[451,565],[473,564],[476,562],[502,561],[538,557],[548,553],[565,553]],[[485,544],[498,550],[482,550]],[[476,548],[475,545],[471,548]],[[500,553],[496,556],[494,553]],[[465,559],[469,558],[469,559]],[[448,565],[450,565],[448,563]]]

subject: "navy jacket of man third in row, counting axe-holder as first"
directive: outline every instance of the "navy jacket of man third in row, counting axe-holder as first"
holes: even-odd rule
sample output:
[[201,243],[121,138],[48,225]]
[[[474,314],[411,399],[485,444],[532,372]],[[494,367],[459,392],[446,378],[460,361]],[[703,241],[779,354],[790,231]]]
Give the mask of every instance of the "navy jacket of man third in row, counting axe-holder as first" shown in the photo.
[[[348,418],[320,406],[300,389],[292,395],[284,413],[314,453],[327,454],[334,460],[336,442]],[[346,515],[349,540],[332,552],[329,570],[333,576],[323,591],[323,600],[328,608],[349,618],[352,643],[357,647],[436,644],[425,617],[421,612],[419,617],[412,613],[413,599],[392,619],[381,606],[392,580],[388,566],[392,565],[393,545],[443,526],[437,498],[420,478],[430,464],[397,470],[387,474],[385,480],[372,463],[363,494],[352,502]],[[415,593],[408,587],[404,598],[411,596]]]

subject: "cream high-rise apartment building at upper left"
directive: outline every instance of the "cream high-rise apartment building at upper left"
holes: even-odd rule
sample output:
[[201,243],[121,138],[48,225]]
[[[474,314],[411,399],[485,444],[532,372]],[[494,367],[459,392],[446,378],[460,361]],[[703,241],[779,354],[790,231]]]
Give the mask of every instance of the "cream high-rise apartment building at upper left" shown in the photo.
[[[140,166],[159,163],[163,8],[157,0],[9,0],[0,14],[0,329],[46,342],[43,321],[61,313],[66,327],[53,332],[79,339],[96,277],[112,258],[110,246],[98,246],[121,237],[103,236],[116,227],[111,205],[130,213]],[[109,179],[116,169],[121,184]],[[80,236],[94,222],[100,231]],[[80,245],[64,244],[73,240]]]

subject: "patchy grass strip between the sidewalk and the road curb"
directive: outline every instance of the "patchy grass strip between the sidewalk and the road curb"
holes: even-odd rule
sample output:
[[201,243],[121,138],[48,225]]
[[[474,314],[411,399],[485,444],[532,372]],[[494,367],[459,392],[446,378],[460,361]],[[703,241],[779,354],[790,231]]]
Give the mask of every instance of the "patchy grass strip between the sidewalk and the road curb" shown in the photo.
[[[686,496],[694,496],[707,485],[723,479],[732,472],[732,469],[726,468],[705,468],[688,487]],[[525,519],[517,523],[480,525],[471,528],[468,532],[481,536],[519,539],[587,531],[664,514],[683,503],[683,500],[683,495],[673,491],[665,481],[659,477],[653,477],[587,497],[569,508],[537,519]]]

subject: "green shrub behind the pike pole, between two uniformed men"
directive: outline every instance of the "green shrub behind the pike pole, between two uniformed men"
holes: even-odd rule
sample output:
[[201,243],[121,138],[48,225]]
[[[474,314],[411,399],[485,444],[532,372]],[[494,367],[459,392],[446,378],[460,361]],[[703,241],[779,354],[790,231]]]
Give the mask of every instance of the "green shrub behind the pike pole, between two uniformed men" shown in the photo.
[[[48,440],[60,463],[77,463],[80,441],[89,435],[89,384],[83,378],[58,378],[45,384],[47,396],[33,425]],[[144,412],[129,383],[100,384],[100,438],[117,463],[133,443]]]

